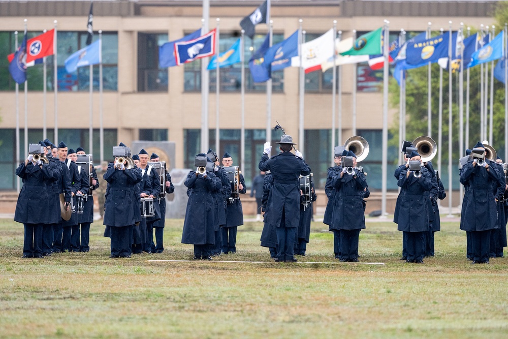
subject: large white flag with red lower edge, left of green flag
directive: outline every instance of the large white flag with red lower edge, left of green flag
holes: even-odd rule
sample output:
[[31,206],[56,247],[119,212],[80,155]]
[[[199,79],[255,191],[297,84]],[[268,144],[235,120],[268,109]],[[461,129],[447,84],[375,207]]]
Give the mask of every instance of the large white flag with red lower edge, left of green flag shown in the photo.
[[[309,42],[302,43],[302,67],[305,69],[305,73],[310,73],[321,69],[321,64],[326,60],[333,57],[333,41],[335,32],[333,28],[330,28],[328,32],[311,40]],[[300,56],[294,56],[291,60],[291,66],[300,67]]]

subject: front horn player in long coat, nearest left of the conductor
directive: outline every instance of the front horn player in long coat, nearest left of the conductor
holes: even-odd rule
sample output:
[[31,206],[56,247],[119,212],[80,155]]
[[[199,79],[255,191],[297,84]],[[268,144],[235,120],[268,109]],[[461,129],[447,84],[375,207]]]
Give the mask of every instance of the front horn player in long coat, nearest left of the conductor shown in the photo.
[[[196,160],[206,161],[205,153],[198,154]],[[208,171],[190,171],[184,185],[188,188],[189,198],[183,222],[182,243],[194,244],[194,260],[212,260],[209,252],[215,243],[215,210],[210,192],[220,190],[220,178]]]

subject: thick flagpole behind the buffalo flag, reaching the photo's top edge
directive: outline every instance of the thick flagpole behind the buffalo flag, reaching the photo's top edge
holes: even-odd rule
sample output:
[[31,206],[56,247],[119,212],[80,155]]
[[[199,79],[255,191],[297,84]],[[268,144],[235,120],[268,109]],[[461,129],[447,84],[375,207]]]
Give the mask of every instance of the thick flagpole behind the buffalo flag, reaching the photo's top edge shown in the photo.
[[[201,35],[208,32],[208,21],[210,17],[210,0],[203,0],[203,19],[201,19]],[[209,88],[209,73],[207,68],[208,57],[201,59],[201,150],[206,152],[209,143],[208,131],[208,94]]]

